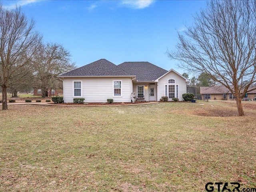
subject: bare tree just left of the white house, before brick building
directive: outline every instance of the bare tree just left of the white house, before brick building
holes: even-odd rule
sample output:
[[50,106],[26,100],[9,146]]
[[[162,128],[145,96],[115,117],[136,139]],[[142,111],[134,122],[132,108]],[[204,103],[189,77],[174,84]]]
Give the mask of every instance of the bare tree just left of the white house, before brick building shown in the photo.
[[76,68],[70,56],[70,52],[60,44],[41,44],[33,66],[36,70],[35,86],[41,88],[42,97],[48,96],[49,89],[62,87],[58,75]]

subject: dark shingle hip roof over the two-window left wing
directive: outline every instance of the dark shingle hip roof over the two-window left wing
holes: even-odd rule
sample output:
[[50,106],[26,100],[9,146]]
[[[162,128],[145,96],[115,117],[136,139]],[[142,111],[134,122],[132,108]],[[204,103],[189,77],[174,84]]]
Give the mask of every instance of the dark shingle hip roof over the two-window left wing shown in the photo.
[[61,76],[134,76],[106,59],[100,59]]

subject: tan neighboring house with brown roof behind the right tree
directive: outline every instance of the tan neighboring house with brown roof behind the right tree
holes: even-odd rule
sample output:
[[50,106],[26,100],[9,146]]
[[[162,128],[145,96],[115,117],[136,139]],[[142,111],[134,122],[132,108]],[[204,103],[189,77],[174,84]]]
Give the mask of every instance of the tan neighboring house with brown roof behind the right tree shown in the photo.
[[[253,87],[254,88],[254,87]],[[256,100],[256,90],[250,91],[244,96],[244,100]],[[235,96],[225,86],[200,87],[200,94],[204,100],[234,100]]]

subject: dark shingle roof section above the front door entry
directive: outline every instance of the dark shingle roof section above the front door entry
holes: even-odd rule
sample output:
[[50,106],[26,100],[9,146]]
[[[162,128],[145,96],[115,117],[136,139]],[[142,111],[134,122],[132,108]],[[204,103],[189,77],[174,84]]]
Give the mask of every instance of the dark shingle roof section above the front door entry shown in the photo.
[[136,75],[138,81],[153,81],[168,72],[150,62],[124,62],[118,66]]

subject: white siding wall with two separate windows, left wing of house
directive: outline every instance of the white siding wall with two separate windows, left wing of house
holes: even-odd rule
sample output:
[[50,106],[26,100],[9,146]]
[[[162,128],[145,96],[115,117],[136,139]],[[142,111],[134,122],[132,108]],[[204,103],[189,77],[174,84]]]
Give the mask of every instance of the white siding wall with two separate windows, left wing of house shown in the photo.
[[[73,81],[82,81],[82,98],[84,102],[131,102],[131,78],[65,78],[63,82],[63,97],[65,103],[73,102]],[[122,81],[122,96],[113,96],[113,81]]]

